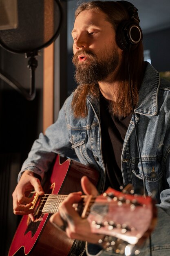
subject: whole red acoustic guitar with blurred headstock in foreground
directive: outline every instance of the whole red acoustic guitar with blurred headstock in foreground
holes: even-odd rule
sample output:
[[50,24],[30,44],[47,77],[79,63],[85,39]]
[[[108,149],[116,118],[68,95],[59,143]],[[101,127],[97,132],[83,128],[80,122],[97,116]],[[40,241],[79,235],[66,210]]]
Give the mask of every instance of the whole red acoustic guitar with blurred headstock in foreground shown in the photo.
[[[9,249],[8,256],[69,256],[75,241],[49,222],[51,214],[73,191],[82,190],[80,179],[86,175],[95,186],[98,173],[72,159],[57,155],[44,184],[45,195],[34,193],[35,220],[23,216]],[[140,246],[150,235],[156,223],[155,202],[151,197],[129,193],[131,186],[122,191],[109,188],[99,196],[82,195],[77,211],[87,218],[93,233],[107,235],[101,247],[122,254]],[[33,192],[32,192],[33,193]],[[137,254],[137,251],[135,251]],[[130,254],[129,254],[130,255]]]

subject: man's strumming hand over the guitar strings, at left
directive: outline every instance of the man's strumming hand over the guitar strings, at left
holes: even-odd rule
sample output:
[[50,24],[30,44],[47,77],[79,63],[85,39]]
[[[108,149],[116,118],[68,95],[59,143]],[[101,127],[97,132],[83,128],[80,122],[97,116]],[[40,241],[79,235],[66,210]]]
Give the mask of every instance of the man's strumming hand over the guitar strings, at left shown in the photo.
[[28,198],[27,194],[31,190],[35,190],[38,195],[44,195],[44,191],[40,184],[40,180],[34,177],[32,171],[24,171],[20,181],[18,182],[15,190],[13,191],[13,213],[18,215],[28,215],[31,220],[34,220],[33,209],[30,210],[32,206],[33,198]]

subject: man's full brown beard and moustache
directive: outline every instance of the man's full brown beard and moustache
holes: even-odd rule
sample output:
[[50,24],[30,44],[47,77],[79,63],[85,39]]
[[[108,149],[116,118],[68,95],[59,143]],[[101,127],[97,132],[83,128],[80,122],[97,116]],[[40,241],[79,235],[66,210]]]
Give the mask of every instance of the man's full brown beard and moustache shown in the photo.
[[[78,56],[84,54],[88,59],[79,63]],[[98,54],[99,55],[99,54]],[[113,73],[119,64],[119,54],[115,48],[101,52],[99,56],[91,50],[79,50],[73,56],[75,80],[78,84],[96,84]]]

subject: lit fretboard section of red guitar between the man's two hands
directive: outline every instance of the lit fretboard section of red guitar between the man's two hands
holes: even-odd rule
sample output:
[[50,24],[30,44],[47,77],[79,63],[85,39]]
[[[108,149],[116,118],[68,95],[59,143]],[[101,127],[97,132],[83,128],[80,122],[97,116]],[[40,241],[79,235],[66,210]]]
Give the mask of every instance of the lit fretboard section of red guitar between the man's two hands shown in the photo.
[[66,195],[48,195],[42,213],[56,213],[60,207],[60,204],[65,200]]

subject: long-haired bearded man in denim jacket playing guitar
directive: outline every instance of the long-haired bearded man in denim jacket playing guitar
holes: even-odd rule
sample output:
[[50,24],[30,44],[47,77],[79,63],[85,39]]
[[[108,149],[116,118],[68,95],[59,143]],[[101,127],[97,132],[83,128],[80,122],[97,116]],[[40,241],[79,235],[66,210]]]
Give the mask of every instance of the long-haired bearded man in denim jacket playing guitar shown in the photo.
[[[137,42],[131,40],[131,28],[124,35],[129,27],[137,28]],[[37,175],[43,179],[56,153],[78,157],[100,173],[97,189],[87,177],[82,178],[86,194],[103,193],[108,186],[119,190],[128,183],[134,189],[144,187],[146,194],[155,191],[157,227],[150,246],[144,246],[140,255],[149,256],[152,251],[154,256],[169,255],[170,84],[144,63],[137,11],[127,2],[82,4],[75,12],[72,36],[78,87],[56,123],[34,142],[13,192],[14,213],[30,214],[33,220],[26,191],[34,188],[43,195]],[[87,255],[117,255],[98,246],[105,243],[104,236],[92,234],[90,223],[73,208],[80,200],[81,193],[69,195],[51,222],[65,225],[69,237],[86,241]]]

